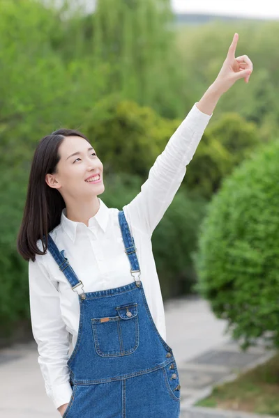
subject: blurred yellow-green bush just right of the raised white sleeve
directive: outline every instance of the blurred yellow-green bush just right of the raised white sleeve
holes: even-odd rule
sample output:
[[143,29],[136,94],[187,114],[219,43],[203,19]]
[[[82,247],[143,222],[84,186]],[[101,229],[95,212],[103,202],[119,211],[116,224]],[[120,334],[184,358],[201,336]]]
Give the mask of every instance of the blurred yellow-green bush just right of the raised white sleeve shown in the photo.
[[223,114],[209,125],[202,137],[188,169],[188,188],[209,199],[223,178],[258,144],[255,123],[247,122],[239,114]]

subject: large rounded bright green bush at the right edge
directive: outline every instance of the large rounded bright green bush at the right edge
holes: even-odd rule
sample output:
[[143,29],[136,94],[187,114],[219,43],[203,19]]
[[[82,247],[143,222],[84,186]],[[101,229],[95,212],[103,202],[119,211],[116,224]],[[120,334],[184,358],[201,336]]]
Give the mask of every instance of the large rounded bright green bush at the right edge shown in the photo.
[[243,348],[267,334],[279,346],[278,160],[275,141],[237,167],[199,231],[197,288]]

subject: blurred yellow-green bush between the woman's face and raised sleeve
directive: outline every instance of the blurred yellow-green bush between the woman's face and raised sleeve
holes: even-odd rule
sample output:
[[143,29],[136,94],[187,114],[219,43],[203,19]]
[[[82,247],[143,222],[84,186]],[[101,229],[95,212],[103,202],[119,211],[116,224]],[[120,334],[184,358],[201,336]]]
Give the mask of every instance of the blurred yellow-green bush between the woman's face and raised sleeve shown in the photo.
[[84,130],[105,162],[105,173],[133,173],[146,178],[180,123],[161,118],[150,107],[114,96],[96,103]]

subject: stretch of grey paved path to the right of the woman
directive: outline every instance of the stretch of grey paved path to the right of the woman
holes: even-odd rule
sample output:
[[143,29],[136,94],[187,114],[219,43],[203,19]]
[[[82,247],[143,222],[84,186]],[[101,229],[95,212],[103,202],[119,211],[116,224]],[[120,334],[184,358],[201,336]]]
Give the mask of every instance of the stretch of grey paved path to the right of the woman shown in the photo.
[[[266,362],[275,351],[266,351],[258,341],[256,347],[241,352],[238,344],[224,334],[225,320],[216,319],[204,300],[172,300],[165,303],[165,312],[167,342],[173,348],[179,369],[181,418],[242,416],[242,413],[230,415],[230,412],[193,408],[193,405],[208,396],[216,383],[233,380],[239,372]],[[243,414],[245,417],[250,415]]]

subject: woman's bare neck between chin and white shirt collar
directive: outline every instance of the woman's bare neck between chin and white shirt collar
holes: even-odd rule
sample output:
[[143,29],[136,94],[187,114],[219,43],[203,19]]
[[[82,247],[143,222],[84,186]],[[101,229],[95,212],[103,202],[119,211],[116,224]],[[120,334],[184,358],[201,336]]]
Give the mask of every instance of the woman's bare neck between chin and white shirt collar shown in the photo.
[[82,222],[89,225],[89,219],[96,215],[100,208],[98,196],[93,196],[91,201],[66,202],[67,217],[73,222]]

